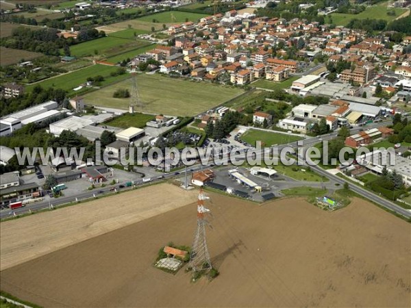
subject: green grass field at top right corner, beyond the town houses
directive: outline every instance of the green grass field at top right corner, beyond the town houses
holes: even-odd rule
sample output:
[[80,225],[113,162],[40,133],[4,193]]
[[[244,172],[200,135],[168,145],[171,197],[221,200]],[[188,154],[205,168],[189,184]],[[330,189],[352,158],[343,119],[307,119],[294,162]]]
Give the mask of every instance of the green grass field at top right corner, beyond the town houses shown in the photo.
[[[395,16],[387,15],[389,10],[395,11]],[[335,25],[347,25],[351,20],[354,18],[356,19],[384,19],[386,21],[392,21],[393,19],[397,18],[406,10],[401,8],[387,8],[387,2],[384,1],[379,3],[378,5],[373,5],[372,7],[368,7],[361,12],[360,14],[340,14],[340,13],[332,13],[328,15],[328,18],[325,18],[326,23],[334,23]],[[331,21],[329,19],[331,16]]]

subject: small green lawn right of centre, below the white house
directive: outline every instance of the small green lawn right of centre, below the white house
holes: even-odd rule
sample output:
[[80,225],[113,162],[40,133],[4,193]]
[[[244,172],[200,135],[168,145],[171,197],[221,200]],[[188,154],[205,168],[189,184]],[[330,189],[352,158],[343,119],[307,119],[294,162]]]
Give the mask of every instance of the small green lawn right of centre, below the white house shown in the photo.
[[285,133],[249,129],[242,134],[241,139],[253,146],[256,145],[257,140],[262,142],[262,146],[272,146],[273,144],[286,144],[303,140],[304,138],[286,135]]

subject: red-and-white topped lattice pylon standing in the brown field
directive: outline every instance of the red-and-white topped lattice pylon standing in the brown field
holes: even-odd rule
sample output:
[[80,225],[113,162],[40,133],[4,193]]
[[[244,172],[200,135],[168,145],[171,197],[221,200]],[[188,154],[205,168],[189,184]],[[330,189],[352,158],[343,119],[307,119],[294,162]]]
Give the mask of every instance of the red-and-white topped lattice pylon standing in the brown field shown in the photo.
[[197,201],[197,231],[194,235],[190,255],[190,266],[193,275],[196,272],[207,271],[212,268],[206,240],[206,225],[208,221],[205,219],[205,216],[210,211],[210,209],[204,207],[204,201],[207,199],[208,197],[205,196],[203,190],[200,189]]

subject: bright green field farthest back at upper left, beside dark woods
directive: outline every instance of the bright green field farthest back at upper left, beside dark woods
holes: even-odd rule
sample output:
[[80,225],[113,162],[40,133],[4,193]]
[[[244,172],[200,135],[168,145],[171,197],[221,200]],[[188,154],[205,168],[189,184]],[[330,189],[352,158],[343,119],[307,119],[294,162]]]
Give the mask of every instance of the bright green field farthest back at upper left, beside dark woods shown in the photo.
[[145,40],[128,40],[125,38],[116,38],[107,36],[105,38],[97,38],[89,40],[70,47],[71,55],[75,57],[85,57],[88,55],[97,55],[99,57],[110,57],[124,53],[132,49],[151,44]]

